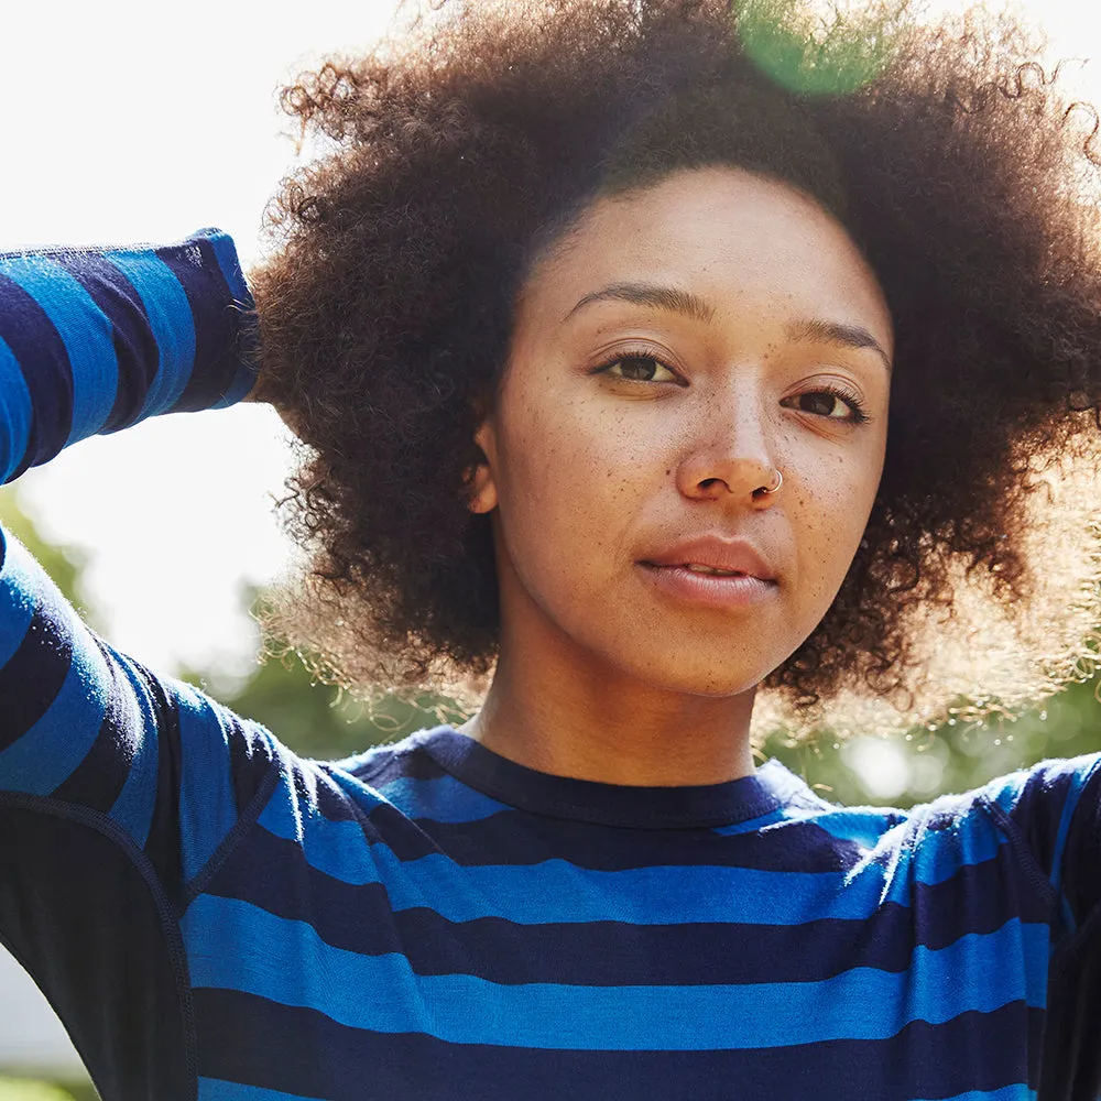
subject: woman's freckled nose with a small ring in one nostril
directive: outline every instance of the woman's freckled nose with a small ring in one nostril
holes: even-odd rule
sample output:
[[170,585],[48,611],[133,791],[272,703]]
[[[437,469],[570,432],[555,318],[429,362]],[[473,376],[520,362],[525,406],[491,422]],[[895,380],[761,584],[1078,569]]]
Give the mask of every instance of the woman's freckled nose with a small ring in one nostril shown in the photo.
[[774,432],[759,394],[744,390],[708,401],[696,416],[688,447],[677,467],[677,488],[696,500],[742,501],[759,509],[773,504],[780,468]]

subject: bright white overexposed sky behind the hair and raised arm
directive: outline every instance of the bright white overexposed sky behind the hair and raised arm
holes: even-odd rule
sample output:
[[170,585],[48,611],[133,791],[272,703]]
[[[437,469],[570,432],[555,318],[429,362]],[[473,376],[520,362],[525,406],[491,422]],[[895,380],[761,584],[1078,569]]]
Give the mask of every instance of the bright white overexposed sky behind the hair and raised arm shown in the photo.
[[[956,3],[945,3],[955,8]],[[9,4],[0,35],[0,249],[168,242],[204,226],[258,257],[261,211],[294,157],[275,107],[288,75],[369,44],[391,0],[66,0]],[[1034,0],[1055,57],[1101,102],[1101,6]],[[19,483],[46,534],[92,553],[111,641],[171,672],[251,659],[244,581],[287,547],[272,517],[286,473],[265,407],[160,417],[64,453]]]

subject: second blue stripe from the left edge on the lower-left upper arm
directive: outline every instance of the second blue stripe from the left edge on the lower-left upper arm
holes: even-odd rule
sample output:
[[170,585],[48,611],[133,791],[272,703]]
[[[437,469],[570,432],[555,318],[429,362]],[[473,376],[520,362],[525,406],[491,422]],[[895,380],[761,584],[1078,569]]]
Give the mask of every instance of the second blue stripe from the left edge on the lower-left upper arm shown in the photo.
[[99,648],[80,637],[87,629],[67,604],[56,615],[76,640],[68,674],[42,718],[0,751],[8,786],[26,795],[50,795],[73,774],[99,737],[107,711],[110,675]]

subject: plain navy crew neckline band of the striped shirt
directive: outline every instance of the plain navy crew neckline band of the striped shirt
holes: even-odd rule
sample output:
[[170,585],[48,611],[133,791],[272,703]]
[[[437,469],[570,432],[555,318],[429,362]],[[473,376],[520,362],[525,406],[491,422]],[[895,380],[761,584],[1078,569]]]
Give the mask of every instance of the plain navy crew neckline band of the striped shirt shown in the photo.
[[634,829],[734,826],[793,802],[818,800],[776,760],[721,784],[636,787],[557,776],[494,753],[454,727],[410,739],[445,772],[500,803],[548,818]]

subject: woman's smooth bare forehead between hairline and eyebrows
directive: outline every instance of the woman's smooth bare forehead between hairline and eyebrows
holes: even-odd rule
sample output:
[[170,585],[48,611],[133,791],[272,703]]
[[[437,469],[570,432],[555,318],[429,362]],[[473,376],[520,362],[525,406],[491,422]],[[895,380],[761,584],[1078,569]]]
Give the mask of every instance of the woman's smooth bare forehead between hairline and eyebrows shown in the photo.
[[891,321],[874,273],[814,199],[738,168],[674,173],[595,200],[534,265],[521,314],[557,324],[595,288],[644,277],[691,290],[723,313],[744,309]]

